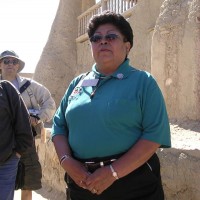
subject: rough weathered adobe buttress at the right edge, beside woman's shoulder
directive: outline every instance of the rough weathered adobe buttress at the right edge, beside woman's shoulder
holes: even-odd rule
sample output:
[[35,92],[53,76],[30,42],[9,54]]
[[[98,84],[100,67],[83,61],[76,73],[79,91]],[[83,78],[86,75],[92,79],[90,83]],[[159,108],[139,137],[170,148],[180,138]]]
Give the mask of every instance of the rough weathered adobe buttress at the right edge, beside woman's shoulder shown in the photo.
[[200,120],[200,1],[163,3],[153,33],[151,73],[170,118]]

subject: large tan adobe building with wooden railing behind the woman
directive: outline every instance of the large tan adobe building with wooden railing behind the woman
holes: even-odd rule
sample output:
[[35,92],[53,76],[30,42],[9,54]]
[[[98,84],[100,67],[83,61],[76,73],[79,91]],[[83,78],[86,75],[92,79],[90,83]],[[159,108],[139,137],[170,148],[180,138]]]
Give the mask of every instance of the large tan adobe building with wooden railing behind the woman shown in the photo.
[[136,2],[60,0],[34,79],[50,89],[58,105],[72,78],[93,64],[86,35],[89,18],[111,9],[130,22],[134,32],[131,64],[155,76],[170,118],[200,119],[199,1]]

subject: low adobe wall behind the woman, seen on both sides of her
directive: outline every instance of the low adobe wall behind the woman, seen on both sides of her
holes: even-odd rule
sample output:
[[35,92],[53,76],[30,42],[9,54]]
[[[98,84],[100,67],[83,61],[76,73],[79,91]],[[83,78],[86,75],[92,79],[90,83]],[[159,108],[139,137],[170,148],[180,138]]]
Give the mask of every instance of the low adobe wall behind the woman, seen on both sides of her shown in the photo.
[[[165,199],[199,200],[200,136],[197,135],[200,134],[200,124],[190,122],[187,123],[187,127],[179,127],[178,130],[176,127],[178,126],[171,125],[173,147],[159,149],[157,152],[161,162]],[[196,128],[194,129],[194,127]],[[193,131],[188,130],[189,128]],[[49,140],[49,137],[50,129],[47,129],[48,142],[43,144],[40,139],[36,141],[42,164],[43,183],[59,193],[65,193],[64,170],[60,167],[53,143]],[[186,138],[187,146],[183,138]],[[195,144],[197,139],[199,141]]]

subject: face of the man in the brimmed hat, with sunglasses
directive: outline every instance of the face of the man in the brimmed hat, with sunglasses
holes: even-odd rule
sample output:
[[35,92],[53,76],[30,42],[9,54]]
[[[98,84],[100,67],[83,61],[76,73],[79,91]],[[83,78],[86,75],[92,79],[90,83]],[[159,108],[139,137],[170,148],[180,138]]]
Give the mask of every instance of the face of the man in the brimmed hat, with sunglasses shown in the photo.
[[2,75],[12,75],[16,76],[19,69],[19,60],[12,57],[3,58],[0,61],[0,69]]

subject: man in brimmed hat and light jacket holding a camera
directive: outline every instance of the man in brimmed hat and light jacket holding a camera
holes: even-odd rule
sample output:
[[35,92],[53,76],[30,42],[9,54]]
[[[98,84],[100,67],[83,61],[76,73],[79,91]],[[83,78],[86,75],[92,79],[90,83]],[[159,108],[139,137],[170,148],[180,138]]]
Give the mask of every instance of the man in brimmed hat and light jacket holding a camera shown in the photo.
[[[49,90],[40,83],[21,77],[18,73],[24,68],[25,62],[11,50],[0,54],[0,80],[10,81],[21,93],[29,110],[33,134],[40,134],[43,122],[52,119],[56,105]],[[25,164],[25,184],[21,200],[31,200],[32,190],[40,189],[42,170],[35,145],[21,155]]]

